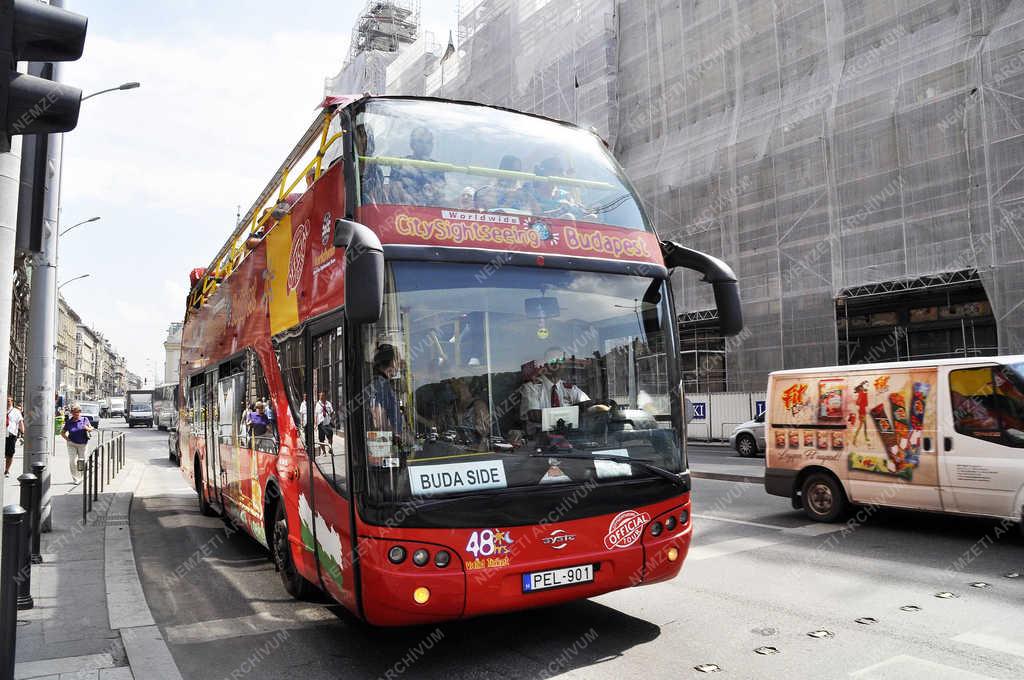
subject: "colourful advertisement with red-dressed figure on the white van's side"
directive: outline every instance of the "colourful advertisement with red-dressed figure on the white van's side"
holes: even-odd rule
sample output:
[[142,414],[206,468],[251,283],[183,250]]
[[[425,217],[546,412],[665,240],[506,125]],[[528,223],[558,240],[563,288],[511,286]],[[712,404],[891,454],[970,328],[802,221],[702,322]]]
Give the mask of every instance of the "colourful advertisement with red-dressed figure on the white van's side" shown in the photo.
[[853,479],[935,485],[935,369],[779,377],[770,466],[823,465]]

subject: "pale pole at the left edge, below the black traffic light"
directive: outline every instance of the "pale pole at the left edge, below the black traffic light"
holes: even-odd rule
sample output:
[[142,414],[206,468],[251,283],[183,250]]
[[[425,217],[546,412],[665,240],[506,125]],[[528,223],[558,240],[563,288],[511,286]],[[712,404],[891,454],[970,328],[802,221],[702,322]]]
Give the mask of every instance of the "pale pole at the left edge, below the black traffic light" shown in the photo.
[[[10,308],[14,297],[14,244],[17,240],[17,185],[22,173],[22,138],[11,137],[10,151],[0,154],[0,403],[7,415],[10,370]],[[4,506],[0,485],[0,507]]]

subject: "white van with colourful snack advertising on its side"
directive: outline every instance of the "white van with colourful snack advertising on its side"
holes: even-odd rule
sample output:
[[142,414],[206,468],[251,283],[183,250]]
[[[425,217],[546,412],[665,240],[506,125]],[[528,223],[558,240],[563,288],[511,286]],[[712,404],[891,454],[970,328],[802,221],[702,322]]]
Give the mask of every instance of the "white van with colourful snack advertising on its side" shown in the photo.
[[848,504],[1024,520],[1024,355],[778,371],[765,490],[818,521]]

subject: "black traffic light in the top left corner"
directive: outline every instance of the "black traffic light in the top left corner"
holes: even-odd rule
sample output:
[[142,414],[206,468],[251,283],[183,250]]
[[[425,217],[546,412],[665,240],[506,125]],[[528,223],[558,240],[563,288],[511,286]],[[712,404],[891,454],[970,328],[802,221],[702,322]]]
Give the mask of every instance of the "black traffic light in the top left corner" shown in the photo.
[[79,58],[88,22],[40,0],[0,0],[0,152],[10,150],[10,135],[67,132],[78,125],[82,90],[16,69],[18,61]]

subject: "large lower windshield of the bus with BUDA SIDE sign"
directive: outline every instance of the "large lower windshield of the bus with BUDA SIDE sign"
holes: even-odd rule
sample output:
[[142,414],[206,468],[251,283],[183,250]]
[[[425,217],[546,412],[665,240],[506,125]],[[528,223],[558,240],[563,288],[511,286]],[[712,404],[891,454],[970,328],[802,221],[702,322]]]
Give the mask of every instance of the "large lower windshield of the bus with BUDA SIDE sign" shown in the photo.
[[683,469],[664,282],[394,262],[386,286],[361,338],[372,498]]

